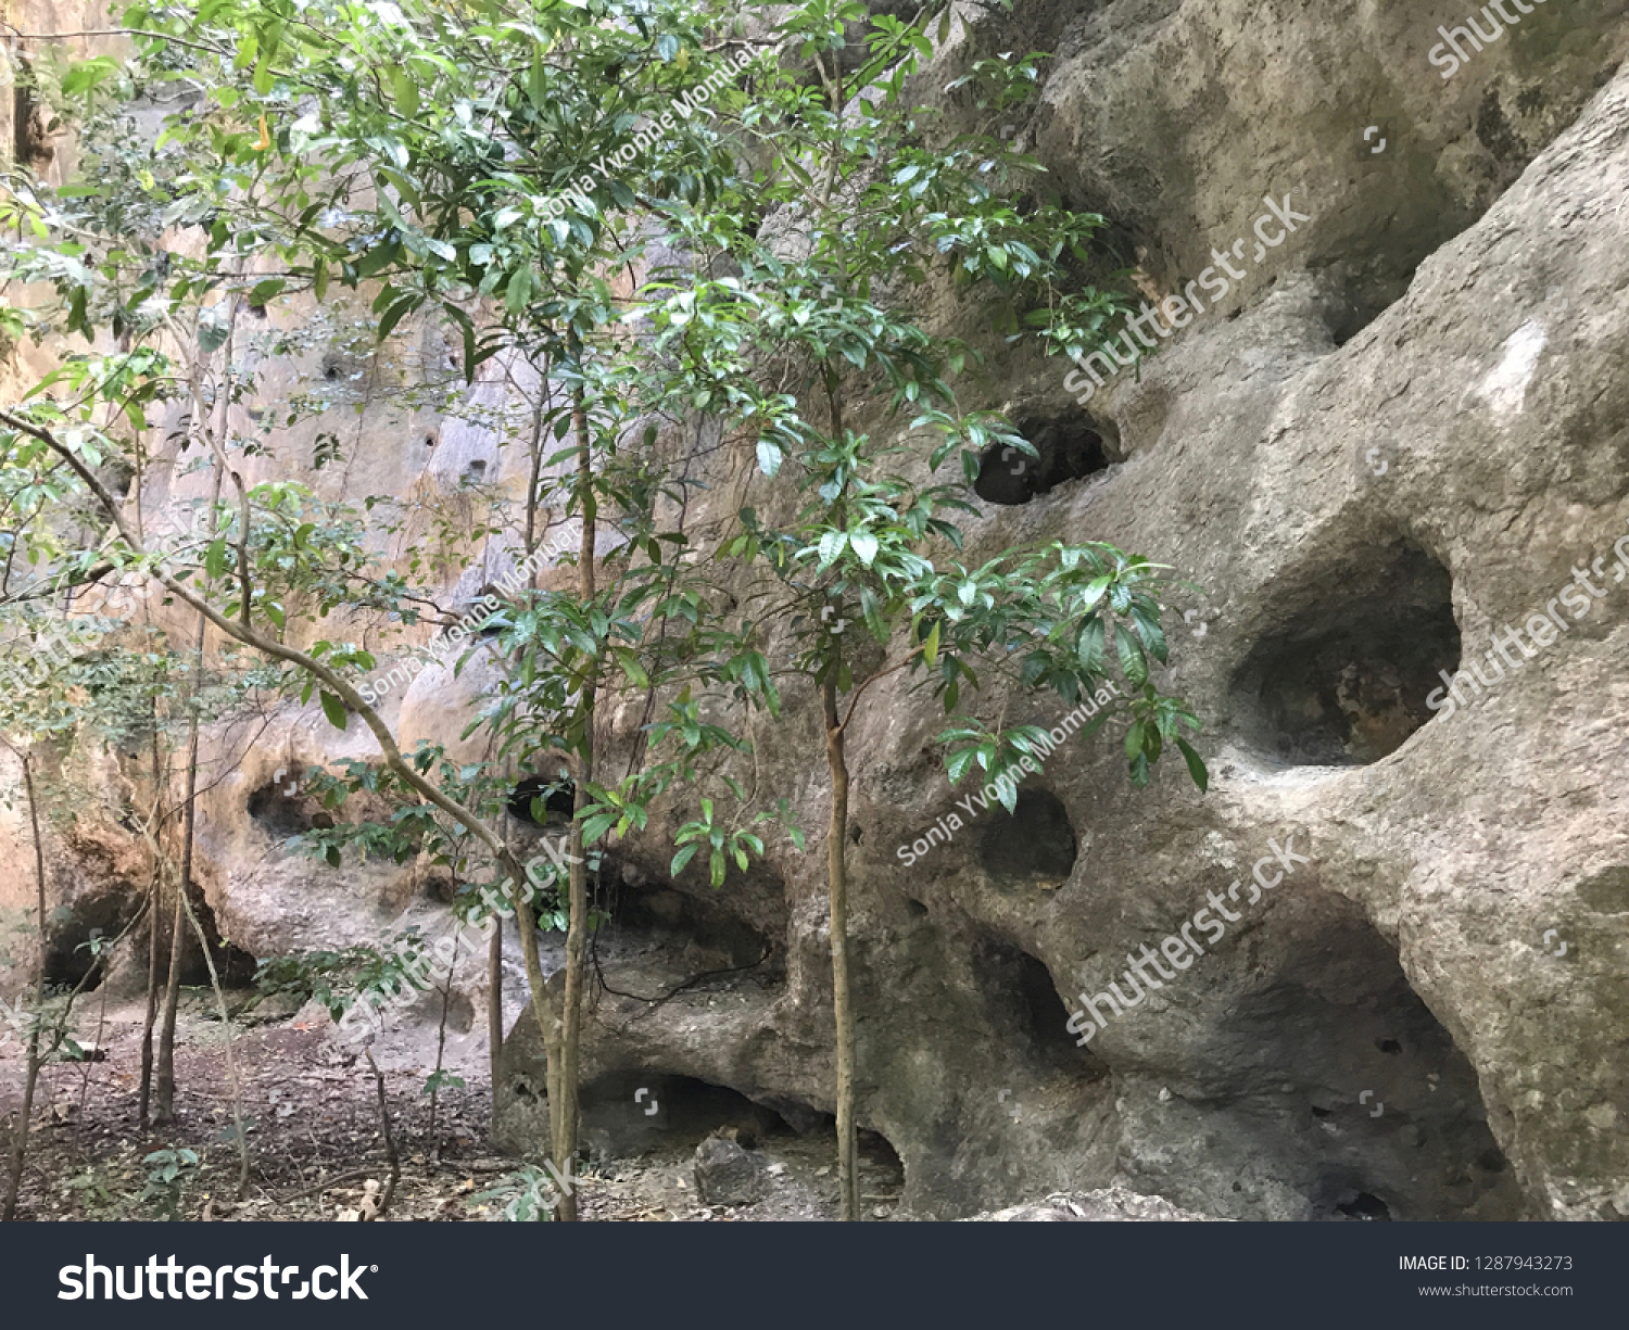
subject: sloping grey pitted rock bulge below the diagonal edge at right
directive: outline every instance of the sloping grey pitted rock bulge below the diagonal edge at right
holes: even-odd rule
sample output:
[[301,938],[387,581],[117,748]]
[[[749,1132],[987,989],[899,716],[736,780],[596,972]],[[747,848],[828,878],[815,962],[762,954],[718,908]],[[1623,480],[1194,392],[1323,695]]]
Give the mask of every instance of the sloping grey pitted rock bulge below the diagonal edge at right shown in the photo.
[[[1422,187],[1406,153],[1386,169],[1365,173],[1370,213]],[[1619,1218],[1626,199],[1618,78],[1360,329],[1324,264],[1349,220],[1315,207],[1271,293],[1191,327],[1090,415],[1056,363],[1007,361],[1016,420],[1095,430],[1113,466],[990,506],[969,557],[1101,537],[1192,576],[1173,680],[1207,718],[1214,783],[1201,798],[1171,773],[1137,794],[1113,744],[1077,744],[1016,817],[906,864],[901,847],[956,807],[940,723],[902,684],[862,708],[862,1122],[899,1151],[909,1206],[1124,1180],[1218,1216]],[[1432,718],[1438,671],[1474,658],[1492,679],[1489,635],[1601,557],[1603,594],[1579,593],[1588,610],[1559,641]],[[1008,718],[1062,710],[1015,698]],[[816,716],[798,721],[774,780],[819,825]],[[1135,996],[1127,956],[1264,856],[1272,879],[1274,842],[1306,861],[1236,895],[1225,939],[1135,1009],[1101,1004],[1077,1048],[1075,995],[1121,980]],[[606,998],[593,1076],[660,1068],[829,1110],[821,869],[775,868],[785,978],[653,1009]],[[528,1030],[510,1057],[531,1065]]]

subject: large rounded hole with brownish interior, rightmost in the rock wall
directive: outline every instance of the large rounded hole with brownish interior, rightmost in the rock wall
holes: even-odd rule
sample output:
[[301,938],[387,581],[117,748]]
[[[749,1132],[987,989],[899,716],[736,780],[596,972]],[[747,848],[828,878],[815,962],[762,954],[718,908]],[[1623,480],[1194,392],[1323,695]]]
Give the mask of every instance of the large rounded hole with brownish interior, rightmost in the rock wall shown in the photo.
[[1458,663],[1448,573],[1406,545],[1329,570],[1287,607],[1235,676],[1236,723],[1285,763],[1378,762],[1432,718],[1427,698]]

